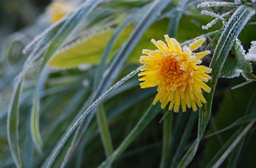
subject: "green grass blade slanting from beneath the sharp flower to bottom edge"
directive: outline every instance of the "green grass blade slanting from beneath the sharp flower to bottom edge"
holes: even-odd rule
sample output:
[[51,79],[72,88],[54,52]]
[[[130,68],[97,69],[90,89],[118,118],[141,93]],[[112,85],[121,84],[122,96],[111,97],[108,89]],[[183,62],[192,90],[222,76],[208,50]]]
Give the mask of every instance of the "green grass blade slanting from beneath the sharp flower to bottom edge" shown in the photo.
[[147,125],[154,119],[154,117],[161,111],[160,104],[150,105],[140,121],[131,130],[129,135],[123,140],[122,144],[104,161],[99,167],[110,167],[111,163],[115,161],[124,150],[131,144],[131,142],[143,131]]

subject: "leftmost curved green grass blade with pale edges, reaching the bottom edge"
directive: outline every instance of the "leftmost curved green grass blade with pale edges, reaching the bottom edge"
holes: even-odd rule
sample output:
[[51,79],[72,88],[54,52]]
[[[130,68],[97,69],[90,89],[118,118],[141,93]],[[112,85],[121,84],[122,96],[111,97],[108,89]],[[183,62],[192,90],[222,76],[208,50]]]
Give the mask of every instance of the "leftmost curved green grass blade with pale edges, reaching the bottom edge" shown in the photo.
[[15,86],[7,115],[7,138],[12,158],[17,167],[21,167],[19,147],[19,107],[23,80]]

